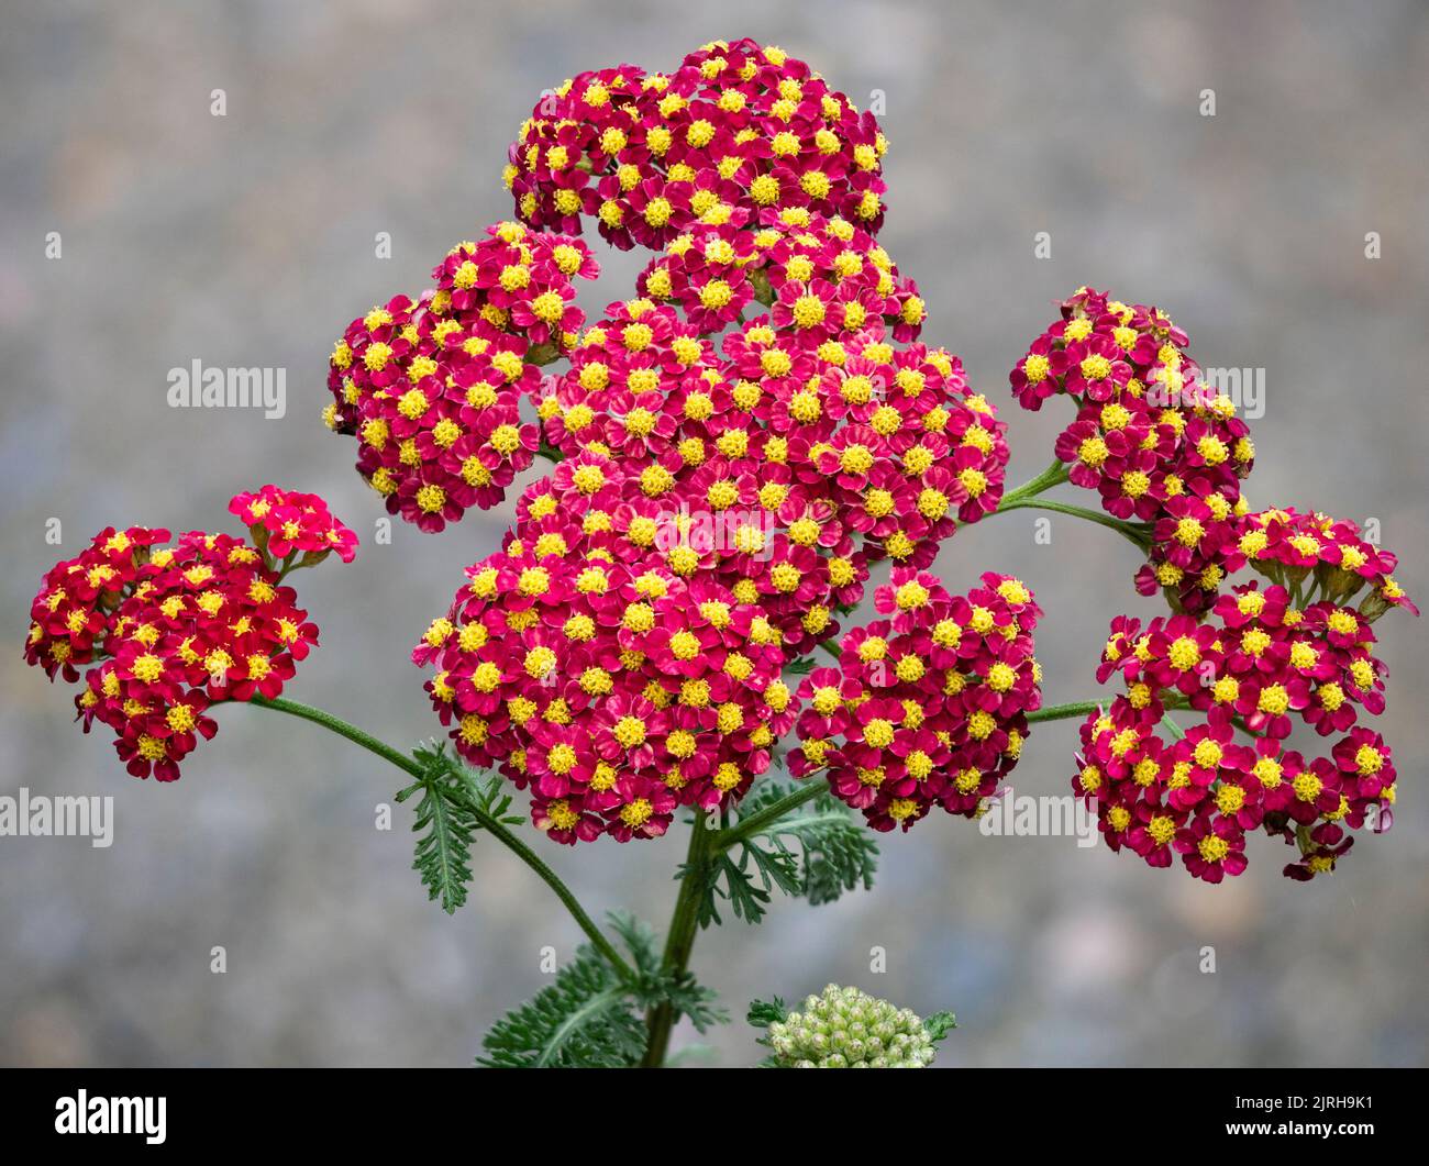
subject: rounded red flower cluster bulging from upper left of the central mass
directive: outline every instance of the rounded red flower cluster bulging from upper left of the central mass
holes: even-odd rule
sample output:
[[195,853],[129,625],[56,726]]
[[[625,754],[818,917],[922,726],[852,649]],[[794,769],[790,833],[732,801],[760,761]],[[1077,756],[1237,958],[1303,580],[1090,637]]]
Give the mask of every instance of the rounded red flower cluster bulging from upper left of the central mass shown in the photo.
[[453,247],[417,300],[397,296],[347,326],[324,420],[357,437],[357,472],[390,513],[442,530],[502,502],[539,446],[522,400],[574,343],[573,280],[596,270],[579,239],[497,223]]

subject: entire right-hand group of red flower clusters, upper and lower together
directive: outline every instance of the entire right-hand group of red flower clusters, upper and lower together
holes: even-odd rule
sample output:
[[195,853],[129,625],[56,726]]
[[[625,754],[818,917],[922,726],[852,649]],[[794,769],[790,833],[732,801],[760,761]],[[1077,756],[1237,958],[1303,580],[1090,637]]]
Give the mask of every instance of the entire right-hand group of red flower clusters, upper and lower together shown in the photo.
[[[1296,846],[1285,873],[1310,879],[1335,867],[1350,832],[1393,820],[1392,753],[1362,723],[1385,709],[1369,624],[1418,609],[1392,577],[1395,556],[1352,523],[1249,509],[1249,430],[1159,310],[1083,287],[1010,373],[1026,409],[1073,399],[1056,454],[1109,514],[1145,524],[1137,590],[1163,592],[1177,613],[1112,623],[1097,679],[1120,673],[1126,694],[1082,726],[1073,789],[1113,850],[1152,866],[1180,854],[1220,882],[1245,870],[1246,834],[1263,830]],[[1222,590],[1248,567],[1270,586]],[[1205,723],[1182,734],[1166,722],[1179,707]],[[1338,737],[1329,756],[1282,746],[1296,719]]]

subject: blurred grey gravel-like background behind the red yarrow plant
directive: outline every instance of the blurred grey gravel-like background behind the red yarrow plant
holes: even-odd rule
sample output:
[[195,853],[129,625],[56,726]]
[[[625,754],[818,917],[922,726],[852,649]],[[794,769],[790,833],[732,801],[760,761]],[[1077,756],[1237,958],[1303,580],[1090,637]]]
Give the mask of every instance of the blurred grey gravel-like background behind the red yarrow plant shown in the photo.
[[[540,949],[570,953],[573,925],[497,846],[477,846],[467,907],[447,917],[426,902],[410,812],[374,829],[400,777],[377,759],[229,707],[177,786],[137,782],[20,644],[41,572],[93,532],[239,533],[229,496],[277,482],[324,494],[364,543],[354,564],[299,577],[322,649],[289,693],[389,740],[436,732],[407,653],[510,506],[443,536],[397,523],[373,544],[383,512],[352,443],[317,416],[332,342],[510,216],[499,173],[542,89],[623,61],[669,70],[739,36],[810,61],[859,106],[883,91],[882,239],[926,294],[925,339],[960,353],[1010,420],[1009,484],[1047,463],[1066,409],[1017,410],[1007,369],[1055,300],[1109,287],[1170,312],[1203,364],[1266,370],[1255,504],[1378,519],[1402,582],[1429,597],[1418,0],[7,3],[0,793],[111,794],[116,836],[107,850],[0,839],[0,1062],[462,1065],[549,980]],[[390,259],[374,256],[379,231]],[[1050,259],[1033,254],[1037,231]],[[587,309],[629,294],[636,266],[614,257]],[[167,370],[194,359],[286,367],[286,419],[169,409]],[[1157,614],[1135,567],[1109,532],[1059,520],[1037,546],[1016,514],[959,532],[937,563],[959,590],[989,569],[1037,590],[1052,702],[1097,694],[1112,616]],[[1379,727],[1403,796],[1392,833],[1330,879],[1283,879],[1289,850],[1265,837],[1243,877],[1209,887],[939,816],[886,839],[872,893],[706,933],[694,967],[736,1016],[829,980],[956,1009],[952,1066],[1422,1063],[1429,653],[1408,616],[1376,632],[1392,670]],[[1017,793],[1066,793],[1075,739],[1073,722],[1039,727]],[[663,926],[680,834],[534,844],[593,910]],[[742,1023],[712,1045],[722,1065],[759,1053]]]

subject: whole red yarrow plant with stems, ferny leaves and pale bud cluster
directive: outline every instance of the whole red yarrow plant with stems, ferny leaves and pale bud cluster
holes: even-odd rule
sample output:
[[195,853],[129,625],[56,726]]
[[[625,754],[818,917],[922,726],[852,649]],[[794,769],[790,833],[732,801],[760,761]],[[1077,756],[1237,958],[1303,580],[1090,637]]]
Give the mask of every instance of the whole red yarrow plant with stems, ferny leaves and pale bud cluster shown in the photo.
[[[477,833],[532,867],[589,943],[492,1029],[489,1065],[663,1065],[679,1017],[723,1019],[689,970],[702,927],[759,922],[775,889],[870,886],[877,833],[985,814],[1043,720],[1085,717],[1073,789],[1113,850],[1219,882],[1263,830],[1292,877],[1333,870],[1392,820],[1392,752],[1365,722],[1385,707],[1370,624],[1418,614],[1395,557],[1319,513],[1250,510],[1248,426],[1186,333],[1086,287],[1010,373],[1025,409],[1075,414],[1007,490],[1006,423],[922,339],[877,241],[886,150],[870,113],[750,40],[582,73],[510,147],[513,217],[347,326],[324,420],[386,510],[436,533],[514,496],[412,653],[440,740],[403,752],[282,696],[317,640],[284,580],[357,540],[274,486],[233,499],[247,540],[99,534],[46,576],[26,659],[79,684],[83,727],[140,777],[176,779],[229,702],[383,756],[449,912]],[[587,322],[590,230],[650,259]],[[1047,497],[1063,483],[1099,509]],[[1122,534],[1136,590],[1169,604],[1113,622],[1096,674],[1119,673],[1115,697],[1045,706],[1032,589],[929,572],[960,527],[1029,507]],[[877,617],[847,626],[870,592]],[[1298,723],[1312,756],[1286,746]],[[522,837],[644,842],[676,819],[663,946],[627,916],[597,926]],[[952,1026],[836,987],[750,1020],[772,1063],[827,1067],[922,1066]]]

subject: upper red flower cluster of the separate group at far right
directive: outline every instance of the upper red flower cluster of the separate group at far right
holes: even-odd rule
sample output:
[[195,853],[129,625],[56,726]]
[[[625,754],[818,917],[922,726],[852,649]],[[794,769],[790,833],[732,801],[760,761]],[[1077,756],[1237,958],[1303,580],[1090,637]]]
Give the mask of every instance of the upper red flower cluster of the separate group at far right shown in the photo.
[[1079,289],[1010,373],[1025,409],[1065,393],[1056,456],[1113,517],[1147,524],[1142,594],[1206,612],[1225,580],[1255,446],[1235,402],[1200,379],[1186,333],[1155,307]]

